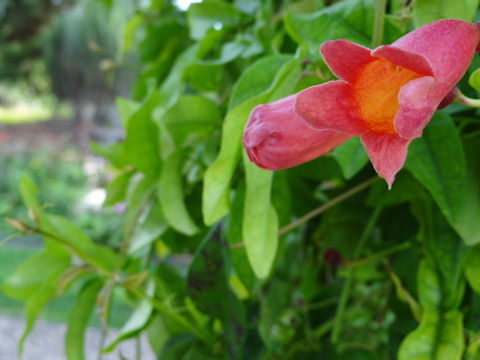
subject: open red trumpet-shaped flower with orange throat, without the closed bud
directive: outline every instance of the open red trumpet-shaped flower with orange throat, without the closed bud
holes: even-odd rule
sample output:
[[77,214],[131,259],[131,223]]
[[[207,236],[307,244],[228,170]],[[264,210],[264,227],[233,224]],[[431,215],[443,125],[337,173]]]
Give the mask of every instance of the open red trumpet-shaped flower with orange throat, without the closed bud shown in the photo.
[[295,111],[313,128],[359,135],[389,188],[412,139],[467,70],[479,41],[474,24],[439,20],[370,50],[347,40],[320,52],[341,80],[301,91]]

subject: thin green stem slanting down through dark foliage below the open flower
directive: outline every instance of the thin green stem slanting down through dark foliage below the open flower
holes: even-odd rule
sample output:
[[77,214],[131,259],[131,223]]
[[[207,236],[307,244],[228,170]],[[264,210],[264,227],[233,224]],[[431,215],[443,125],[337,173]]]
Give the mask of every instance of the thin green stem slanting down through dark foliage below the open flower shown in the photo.
[[[372,215],[370,215],[370,219],[368,219],[367,225],[363,229],[362,235],[357,242],[357,246],[355,247],[353,253],[353,260],[357,260],[360,254],[365,247],[368,237],[373,230],[373,226],[377,222],[378,216],[382,211],[382,207],[377,207],[373,210]],[[338,337],[340,335],[340,330],[342,329],[342,322],[345,315],[345,309],[347,307],[348,298],[350,297],[350,291],[352,289],[353,279],[355,275],[355,269],[348,269],[346,272],[347,280],[345,285],[342,288],[342,293],[340,294],[340,300],[338,301],[337,311],[335,313],[335,318],[333,320],[333,329],[332,329],[332,336],[331,341],[333,344],[338,342]]]

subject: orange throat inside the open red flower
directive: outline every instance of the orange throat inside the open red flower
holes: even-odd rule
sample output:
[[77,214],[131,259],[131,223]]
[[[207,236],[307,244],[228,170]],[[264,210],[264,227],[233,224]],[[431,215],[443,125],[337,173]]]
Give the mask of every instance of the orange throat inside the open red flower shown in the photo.
[[407,82],[420,76],[383,59],[365,65],[352,88],[360,115],[371,130],[397,133],[393,127],[393,118],[400,108],[398,92]]

